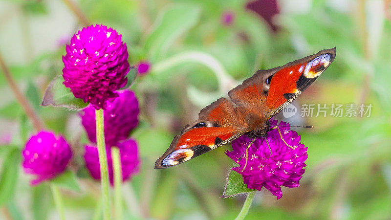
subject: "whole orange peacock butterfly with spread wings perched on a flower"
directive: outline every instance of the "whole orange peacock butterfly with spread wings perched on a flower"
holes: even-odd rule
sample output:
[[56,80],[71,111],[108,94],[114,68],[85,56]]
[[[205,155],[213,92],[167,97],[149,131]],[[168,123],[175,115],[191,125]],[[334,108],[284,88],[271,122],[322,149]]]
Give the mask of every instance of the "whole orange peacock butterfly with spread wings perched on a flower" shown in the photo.
[[296,99],[334,61],[336,48],[321,50],[253,76],[198,114],[174,137],[167,151],[156,160],[155,169],[178,165],[229,144],[241,135],[266,137],[268,120]]

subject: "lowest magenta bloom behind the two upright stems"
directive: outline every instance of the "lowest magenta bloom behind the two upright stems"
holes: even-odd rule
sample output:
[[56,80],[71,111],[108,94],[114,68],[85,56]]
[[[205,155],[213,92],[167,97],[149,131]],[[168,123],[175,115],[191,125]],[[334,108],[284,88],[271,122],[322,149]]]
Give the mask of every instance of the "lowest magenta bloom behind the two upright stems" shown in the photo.
[[[138,155],[137,143],[133,139],[128,139],[124,142],[118,143],[121,166],[122,166],[122,181],[130,179],[131,176],[138,173],[140,159]],[[84,160],[86,167],[94,179],[101,178],[101,171],[99,168],[98,149],[95,146],[85,146],[86,153],[84,154]],[[109,165],[109,179],[111,185],[113,185],[113,165],[111,159],[110,148],[106,148],[108,155]]]

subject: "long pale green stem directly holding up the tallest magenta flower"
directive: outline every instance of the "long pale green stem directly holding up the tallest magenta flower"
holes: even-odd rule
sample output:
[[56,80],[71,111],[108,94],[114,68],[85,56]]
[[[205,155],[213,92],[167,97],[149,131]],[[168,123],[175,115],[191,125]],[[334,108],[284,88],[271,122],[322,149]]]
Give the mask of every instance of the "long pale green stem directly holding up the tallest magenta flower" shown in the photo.
[[103,110],[95,110],[96,120],[96,143],[98,145],[99,166],[101,169],[101,187],[103,199],[103,217],[110,220],[110,200],[109,200],[109,168],[107,164],[107,153],[105,144],[105,132],[103,123]]

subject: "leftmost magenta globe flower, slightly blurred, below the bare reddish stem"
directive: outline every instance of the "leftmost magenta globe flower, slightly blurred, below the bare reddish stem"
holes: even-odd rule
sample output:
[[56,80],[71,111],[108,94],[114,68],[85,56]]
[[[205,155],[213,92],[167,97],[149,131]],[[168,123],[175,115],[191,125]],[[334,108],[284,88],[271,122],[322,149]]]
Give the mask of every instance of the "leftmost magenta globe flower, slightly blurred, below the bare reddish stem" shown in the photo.
[[22,155],[24,172],[37,177],[31,181],[35,185],[61,174],[71,159],[72,152],[63,136],[42,131],[27,141]]

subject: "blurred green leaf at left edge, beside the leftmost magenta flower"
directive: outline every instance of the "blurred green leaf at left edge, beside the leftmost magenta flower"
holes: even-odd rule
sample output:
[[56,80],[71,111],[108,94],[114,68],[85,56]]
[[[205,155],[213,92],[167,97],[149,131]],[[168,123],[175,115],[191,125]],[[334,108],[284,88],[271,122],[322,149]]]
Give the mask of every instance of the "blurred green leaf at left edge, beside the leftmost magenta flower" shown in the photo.
[[7,155],[0,176],[0,206],[7,203],[15,195],[17,185],[21,151],[13,149]]

